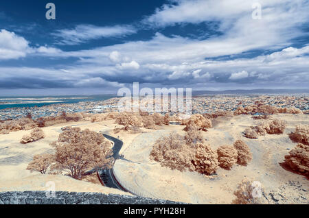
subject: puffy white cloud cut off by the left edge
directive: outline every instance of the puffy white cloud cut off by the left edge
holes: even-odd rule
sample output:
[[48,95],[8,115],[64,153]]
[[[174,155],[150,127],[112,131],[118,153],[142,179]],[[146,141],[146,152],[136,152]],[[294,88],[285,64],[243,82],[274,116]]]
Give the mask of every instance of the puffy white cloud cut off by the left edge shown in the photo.
[[0,60],[23,58],[29,51],[25,38],[17,36],[14,32],[1,29],[0,32]]

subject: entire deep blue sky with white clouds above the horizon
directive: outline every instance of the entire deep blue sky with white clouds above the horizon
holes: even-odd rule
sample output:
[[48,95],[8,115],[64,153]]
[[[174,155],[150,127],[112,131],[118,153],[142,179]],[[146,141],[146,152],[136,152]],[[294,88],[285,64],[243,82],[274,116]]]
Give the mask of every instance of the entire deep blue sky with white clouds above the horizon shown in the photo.
[[133,82],[308,88],[308,12],[307,0],[1,1],[0,95],[115,93]]

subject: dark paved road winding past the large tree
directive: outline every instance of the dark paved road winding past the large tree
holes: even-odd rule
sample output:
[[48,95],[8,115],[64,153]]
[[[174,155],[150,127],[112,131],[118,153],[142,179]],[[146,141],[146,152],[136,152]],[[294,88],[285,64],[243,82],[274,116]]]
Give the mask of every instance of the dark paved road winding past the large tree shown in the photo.
[[[119,151],[122,149],[122,145],[124,145],[124,143],[119,139],[107,134],[103,134],[103,136],[108,140],[113,141],[113,158],[117,160],[117,158],[119,158]],[[115,175],[113,174],[113,169],[101,169],[98,171],[98,173],[102,182],[104,183],[104,186],[128,192],[128,190],[124,189],[124,187],[122,187],[116,180]]]

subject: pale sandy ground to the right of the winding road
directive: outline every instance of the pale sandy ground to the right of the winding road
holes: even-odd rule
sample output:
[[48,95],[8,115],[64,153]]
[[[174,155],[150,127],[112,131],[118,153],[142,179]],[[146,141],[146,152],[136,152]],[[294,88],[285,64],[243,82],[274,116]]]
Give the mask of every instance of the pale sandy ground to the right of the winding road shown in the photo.
[[269,204],[309,204],[308,179],[286,171],[279,165],[296,145],[287,134],[295,130],[298,123],[308,125],[309,117],[303,114],[279,114],[273,118],[288,122],[284,134],[267,134],[258,139],[244,138],[244,129],[258,123],[247,115],[219,118],[214,122],[214,128],[203,133],[213,149],[220,145],[232,145],[241,138],[253,153],[253,160],[247,167],[235,165],[231,170],[218,169],[216,176],[189,171],[181,173],[161,167],[149,158],[155,140],[172,131],[185,134],[183,126],[168,126],[164,130],[142,133],[133,138],[131,145],[122,153],[127,160],[117,160],[114,169],[126,186],[145,197],[193,204],[230,204],[237,184],[247,177],[264,186],[266,202]]

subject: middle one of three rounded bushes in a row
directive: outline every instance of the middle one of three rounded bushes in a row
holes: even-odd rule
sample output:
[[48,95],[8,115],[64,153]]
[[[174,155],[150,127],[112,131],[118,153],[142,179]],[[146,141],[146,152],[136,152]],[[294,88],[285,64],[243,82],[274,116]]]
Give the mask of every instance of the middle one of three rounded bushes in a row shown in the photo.
[[229,145],[218,147],[217,154],[219,166],[225,169],[231,169],[238,159],[236,148]]

